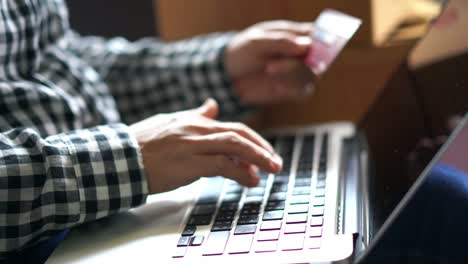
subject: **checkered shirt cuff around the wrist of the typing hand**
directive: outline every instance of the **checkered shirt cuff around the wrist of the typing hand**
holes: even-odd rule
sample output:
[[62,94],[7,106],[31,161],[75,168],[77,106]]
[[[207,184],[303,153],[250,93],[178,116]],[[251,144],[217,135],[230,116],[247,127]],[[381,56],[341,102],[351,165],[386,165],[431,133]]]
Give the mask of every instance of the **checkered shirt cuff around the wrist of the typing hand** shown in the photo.
[[148,195],[136,139],[123,124],[62,134],[80,197],[80,223],[143,204]]

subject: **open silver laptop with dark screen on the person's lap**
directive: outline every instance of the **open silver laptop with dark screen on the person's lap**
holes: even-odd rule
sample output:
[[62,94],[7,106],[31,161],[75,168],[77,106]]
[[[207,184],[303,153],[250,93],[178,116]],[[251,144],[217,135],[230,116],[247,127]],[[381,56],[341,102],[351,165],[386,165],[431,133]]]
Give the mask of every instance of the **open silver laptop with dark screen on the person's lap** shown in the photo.
[[[467,112],[465,2],[447,4],[443,25],[418,42],[359,124],[266,131],[284,167],[261,173],[259,186],[213,177],[152,195],[144,206],[72,230],[48,263],[365,262],[468,130],[464,121],[416,184],[406,176],[417,142]],[[443,45],[439,36],[448,38]]]

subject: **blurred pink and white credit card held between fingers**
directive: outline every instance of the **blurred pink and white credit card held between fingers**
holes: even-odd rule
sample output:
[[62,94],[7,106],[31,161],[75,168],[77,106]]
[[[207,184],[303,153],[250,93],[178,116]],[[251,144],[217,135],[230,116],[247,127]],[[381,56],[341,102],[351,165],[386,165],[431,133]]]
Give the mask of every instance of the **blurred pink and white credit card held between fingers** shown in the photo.
[[359,18],[325,9],[315,21],[305,63],[317,76],[323,74],[360,26]]

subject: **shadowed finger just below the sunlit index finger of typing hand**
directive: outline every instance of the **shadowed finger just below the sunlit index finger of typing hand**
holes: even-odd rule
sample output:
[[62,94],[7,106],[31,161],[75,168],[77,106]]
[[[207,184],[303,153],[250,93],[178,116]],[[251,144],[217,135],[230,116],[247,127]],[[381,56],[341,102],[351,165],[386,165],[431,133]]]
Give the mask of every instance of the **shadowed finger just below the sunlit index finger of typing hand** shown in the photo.
[[223,176],[248,187],[258,185],[252,166],[235,163],[226,155],[199,155],[194,161],[194,172],[199,177]]

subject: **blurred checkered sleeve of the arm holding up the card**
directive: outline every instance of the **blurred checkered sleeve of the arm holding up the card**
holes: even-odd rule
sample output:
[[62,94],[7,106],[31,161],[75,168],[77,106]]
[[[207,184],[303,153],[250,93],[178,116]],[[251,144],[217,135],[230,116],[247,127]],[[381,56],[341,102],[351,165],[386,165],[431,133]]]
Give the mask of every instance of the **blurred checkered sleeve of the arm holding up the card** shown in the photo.
[[224,67],[232,33],[215,33],[164,43],[146,38],[128,42],[70,33],[70,50],[86,60],[108,84],[124,121],[197,107],[215,98],[223,119],[250,108],[240,103]]

